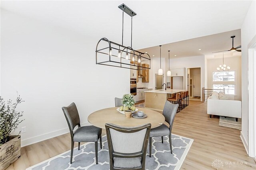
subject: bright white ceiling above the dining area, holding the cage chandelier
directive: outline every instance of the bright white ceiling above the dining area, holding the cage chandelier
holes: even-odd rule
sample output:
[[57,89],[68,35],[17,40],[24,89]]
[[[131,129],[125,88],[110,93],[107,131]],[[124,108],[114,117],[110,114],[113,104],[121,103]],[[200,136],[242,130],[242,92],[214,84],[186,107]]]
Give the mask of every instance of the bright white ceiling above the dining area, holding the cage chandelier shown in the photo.
[[[121,43],[122,11],[118,6],[125,3],[137,13],[133,48],[141,49],[240,29],[251,2],[34,0],[1,1],[1,9],[75,31],[92,42],[106,37]],[[130,17],[124,19],[124,45],[130,46]]]

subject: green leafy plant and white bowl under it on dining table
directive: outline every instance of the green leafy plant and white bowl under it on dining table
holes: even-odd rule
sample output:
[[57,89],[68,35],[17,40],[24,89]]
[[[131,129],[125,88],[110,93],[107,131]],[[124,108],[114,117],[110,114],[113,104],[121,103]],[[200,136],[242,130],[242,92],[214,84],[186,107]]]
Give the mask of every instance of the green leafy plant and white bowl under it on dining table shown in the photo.
[[122,114],[124,114],[124,111],[131,110],[132,113],[137,112],[138,109],[134,106],[135,101],[133,99],[132,94],[124,94],[122,98],[122,106],[117,108],[116,110]]

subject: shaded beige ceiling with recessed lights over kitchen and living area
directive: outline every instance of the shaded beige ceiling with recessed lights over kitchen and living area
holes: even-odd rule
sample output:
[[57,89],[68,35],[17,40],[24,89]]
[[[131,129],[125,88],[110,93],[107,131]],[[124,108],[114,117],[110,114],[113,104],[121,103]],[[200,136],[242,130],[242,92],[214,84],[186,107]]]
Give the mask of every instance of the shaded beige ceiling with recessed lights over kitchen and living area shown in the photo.
[[[168,50],[170,50],[170,58],[180,58],[188,56],[200,56],[207,55],[207,58],[219,58],[222,57],[222,52],[212,53],[223,50],[230,50],[232,48],[232,38],[230,36],[235,35],[234,47],[241,45],[241,30],[233,30],[229,32],[223,32],[220,34],[214,34],[210,36],[203,36],[199,38],[193,38],[189,40],[173,42],[169,44],[161,44],[161,57],[168,58]],[[201,50],[198,50],[201,49]],[[241,49],[241,48],[239,48]],[[150,48],[140,49],[141,52],[147,52],[150,56],[160,57],[160,47],[154,46]],[[225,56],[241,56],[241,52],[224,52]],[[174,56],[177,55],[177,56]]]

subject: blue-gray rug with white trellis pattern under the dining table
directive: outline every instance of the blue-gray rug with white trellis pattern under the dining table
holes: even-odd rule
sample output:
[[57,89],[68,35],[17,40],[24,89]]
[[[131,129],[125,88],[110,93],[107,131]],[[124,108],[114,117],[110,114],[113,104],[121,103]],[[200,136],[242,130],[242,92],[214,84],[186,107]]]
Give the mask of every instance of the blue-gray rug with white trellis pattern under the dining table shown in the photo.
[[[152,141],[152,156],[146,156],[146,170],[178,170],[188,154],[193,139],[172,134],[172,152],[168,136],[155,137]],[[148,150],[149,153],[149,144]],[[26,170],[109,170],[109,154],[106,135],[102,137],[102,149],[98,144],[98,164],[96,165],[94,142],[88,142],[74,149],[73,163],[70,164],[70,150],[40,162]]]

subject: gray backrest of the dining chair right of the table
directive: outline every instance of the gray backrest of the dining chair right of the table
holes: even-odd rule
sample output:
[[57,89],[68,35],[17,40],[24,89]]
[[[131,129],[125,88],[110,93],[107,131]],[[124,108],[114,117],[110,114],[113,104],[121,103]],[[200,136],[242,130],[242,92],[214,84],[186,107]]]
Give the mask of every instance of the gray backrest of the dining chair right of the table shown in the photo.
[[172,124],[174,122],[174,117],[178,110],[178,106],[179,104],[172,104],[168,101],[166,101],[164,105],[163,115],[164,115],[165,121],[170,125],[170,132],[172,129]]

